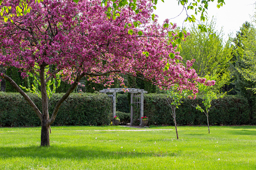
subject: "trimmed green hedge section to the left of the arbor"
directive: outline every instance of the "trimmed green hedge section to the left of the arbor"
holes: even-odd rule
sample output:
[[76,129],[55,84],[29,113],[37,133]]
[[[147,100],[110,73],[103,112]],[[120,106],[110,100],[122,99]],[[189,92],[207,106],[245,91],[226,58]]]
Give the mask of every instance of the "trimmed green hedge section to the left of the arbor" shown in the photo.
[[[28,94],[39,110],[41,99]],[[49,101],[51,114],[63,94]],[[71,93],[59,108],[53,125],[104,125],[110,123],[111,102],[105,94]],[[51,116],[51,115],[50,115]],[[0,92],[0,126],[40,126],[41,122],[19,93]]]

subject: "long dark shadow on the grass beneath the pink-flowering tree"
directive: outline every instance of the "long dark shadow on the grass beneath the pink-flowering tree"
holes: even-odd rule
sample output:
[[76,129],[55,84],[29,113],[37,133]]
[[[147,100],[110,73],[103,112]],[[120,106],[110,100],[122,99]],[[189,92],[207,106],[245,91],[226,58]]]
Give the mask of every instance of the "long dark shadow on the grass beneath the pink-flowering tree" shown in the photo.
[[28,147],[0,147],[0,158],[8,157],[39,157],[39,158],[49,158],[55,157],[59,159],[63,158],[121,158],[121,157],[148,157],[148,156],[176,156],[177,153],[174,152],[164,152],[164,151],[106,151],[102,148],[94,147],[90,148],[88,146],[50,146],[50,147],[40,147],[40,146],[28,146]]

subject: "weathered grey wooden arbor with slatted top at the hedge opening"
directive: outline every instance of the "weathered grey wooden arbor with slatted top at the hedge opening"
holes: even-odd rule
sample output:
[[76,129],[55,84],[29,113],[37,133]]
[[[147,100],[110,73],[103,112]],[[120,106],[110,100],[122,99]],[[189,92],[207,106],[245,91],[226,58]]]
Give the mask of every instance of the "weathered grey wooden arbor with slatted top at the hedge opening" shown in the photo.
[[[139,103],[140,103],[140,126],[142,125],[142,119],[141,117],[143,117],[144,114],[144,93],[147,93],[147,91],[143,90],[143,89],[135,89],[135,88],[112,88],[112,89],[103,89],[100,90],[101,93],[112,93],[112,94],[108,94],[108,96],[110,96],[112,98],[112,103],[113,103],[113,119],[116,116],[116,93],[117,92],[129,92],[131,93],[131,121],[130,121],[130,126],[133,125],[133,113],[134,113],[134,107],[133,107],[133,103],[138,103],[135,101],[134,102],[134,96],[140,97]],[[140,93],[140,95],[139,95]],[[135,94],[135,95],[134,95]],[[137,94],[137,95],[136,95]],[[114,123],[113,123],[114,125]]]

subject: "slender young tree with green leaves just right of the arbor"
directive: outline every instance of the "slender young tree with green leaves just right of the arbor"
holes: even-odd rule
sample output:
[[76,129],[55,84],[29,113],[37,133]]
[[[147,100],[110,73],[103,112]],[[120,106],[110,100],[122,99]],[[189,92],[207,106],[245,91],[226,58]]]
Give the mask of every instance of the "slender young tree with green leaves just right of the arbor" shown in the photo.
[[178,135],[178,130],[177,130],[177,122],[176,122],[176,108],[179,108],[179,105],[181,105],[182,98],[185,98],[188,96],[187,91],[185,90],[179,90],[179,87],[173,86],[167,92],[167,98],[164,100],[164,102],[168,105],[169,107],[169,112],[172,114],[174,118],[174,124],[175,124],[175,129],[176,129],[176,135],[177,139],[179,139]]

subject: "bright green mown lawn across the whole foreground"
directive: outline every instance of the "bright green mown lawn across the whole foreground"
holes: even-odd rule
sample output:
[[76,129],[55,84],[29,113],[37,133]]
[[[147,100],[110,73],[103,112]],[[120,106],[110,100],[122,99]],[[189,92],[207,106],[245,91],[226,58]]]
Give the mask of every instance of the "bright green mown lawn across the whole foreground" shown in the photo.
[[50,147],[40,127],[1,127],[0,169],[256,169],[255,127],[59,126]]

